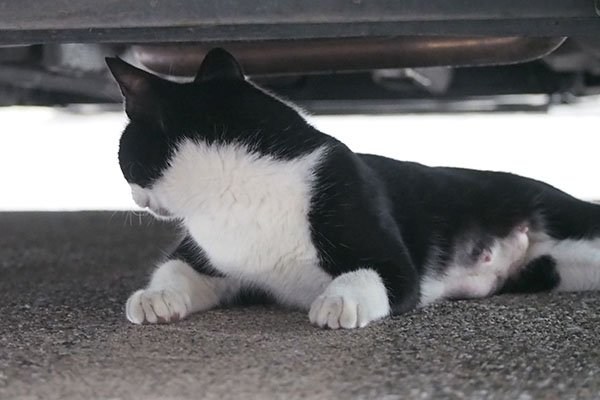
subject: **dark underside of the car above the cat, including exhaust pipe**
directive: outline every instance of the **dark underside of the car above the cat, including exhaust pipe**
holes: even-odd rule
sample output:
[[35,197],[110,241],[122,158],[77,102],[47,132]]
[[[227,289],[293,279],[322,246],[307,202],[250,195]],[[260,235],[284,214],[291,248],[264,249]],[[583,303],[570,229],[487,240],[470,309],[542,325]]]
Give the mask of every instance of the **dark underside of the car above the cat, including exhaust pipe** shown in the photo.
[[224,47],[315,114],[543,111],[600,93],[598,0],[33,1],[0,7],[0,105],[120,101],[104,57],[174,80]]

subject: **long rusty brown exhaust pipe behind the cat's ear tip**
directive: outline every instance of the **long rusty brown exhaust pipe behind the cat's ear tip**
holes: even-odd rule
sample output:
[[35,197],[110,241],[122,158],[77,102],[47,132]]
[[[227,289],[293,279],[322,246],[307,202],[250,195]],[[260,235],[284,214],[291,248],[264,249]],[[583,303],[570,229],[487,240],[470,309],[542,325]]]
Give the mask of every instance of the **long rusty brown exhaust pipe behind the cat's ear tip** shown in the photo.
[[193,76],[206,53],[223,47],[249,75],[360,71],[379,68],[520,63],[543,57],[565,38],[441,37],[312,39],[230,43],[140,44],[137,61],[173,76]]

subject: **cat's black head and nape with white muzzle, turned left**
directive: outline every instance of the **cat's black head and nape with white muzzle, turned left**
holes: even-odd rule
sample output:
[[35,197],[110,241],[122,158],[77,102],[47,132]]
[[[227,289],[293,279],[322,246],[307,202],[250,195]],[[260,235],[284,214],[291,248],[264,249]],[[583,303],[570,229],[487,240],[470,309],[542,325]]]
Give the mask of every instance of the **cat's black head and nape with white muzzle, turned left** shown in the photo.
[[121,170],[135,202],[158,217],[179,217],[159,183],[186,143],[240,144],[276,158],[293,158],[316,146],[318,133],[304,118],[248,82],[225,50],[211,50],[189,83],[162,79],[119,58],[106,62],[130,120],[120,141]]

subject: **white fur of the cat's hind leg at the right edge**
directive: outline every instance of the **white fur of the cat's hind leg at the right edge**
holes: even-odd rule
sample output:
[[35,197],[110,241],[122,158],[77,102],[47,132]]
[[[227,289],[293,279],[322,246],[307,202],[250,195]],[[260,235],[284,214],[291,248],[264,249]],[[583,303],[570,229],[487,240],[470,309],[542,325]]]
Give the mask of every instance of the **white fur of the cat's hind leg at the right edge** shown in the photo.
[[557,291],[600,289],[600,238],[556,240],[538,234],[527,252],[527,261],[550,255],[560,275]]

